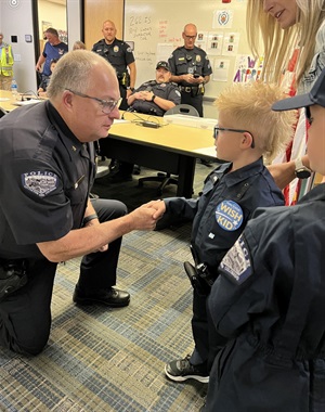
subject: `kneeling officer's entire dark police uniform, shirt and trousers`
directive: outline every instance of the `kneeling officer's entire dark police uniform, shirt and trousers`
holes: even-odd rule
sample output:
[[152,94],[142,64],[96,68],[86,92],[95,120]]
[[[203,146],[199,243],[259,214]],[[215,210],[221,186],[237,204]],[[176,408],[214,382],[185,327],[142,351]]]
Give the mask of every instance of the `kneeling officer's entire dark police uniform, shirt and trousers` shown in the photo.
[[[27,284],[0,299],[0,344],[38,353],[50,333],[57,265],[36,244],[82,227],[95,177],[93,143],[80,143],[49,101],[5,115],[0,133],[0,293],[6,268],[27,271]],[[93,206],[100,221],[127,213],[116,201],[96,199]],[[78,287],[115,285],[120,243],[83,257]]]

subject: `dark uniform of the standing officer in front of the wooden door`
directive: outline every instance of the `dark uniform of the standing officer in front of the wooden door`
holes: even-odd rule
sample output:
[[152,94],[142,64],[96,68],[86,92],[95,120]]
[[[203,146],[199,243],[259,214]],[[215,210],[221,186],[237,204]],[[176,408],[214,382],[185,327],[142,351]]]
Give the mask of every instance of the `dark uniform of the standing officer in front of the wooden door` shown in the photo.
[[107,44],[105,39],[102,39],[93,44],[92,51],[106,59],[115,68],[122,98],[120,108],[126,111],[128,108],[127,88],[130,86],[128,65],[134,62],[131,47],[122,40],[114,39],[112,44]]

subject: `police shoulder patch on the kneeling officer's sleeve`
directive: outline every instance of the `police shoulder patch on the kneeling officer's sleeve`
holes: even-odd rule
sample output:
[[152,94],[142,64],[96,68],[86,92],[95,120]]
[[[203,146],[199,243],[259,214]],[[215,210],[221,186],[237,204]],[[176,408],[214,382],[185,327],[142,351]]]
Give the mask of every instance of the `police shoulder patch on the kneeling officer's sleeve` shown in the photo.
[[53,192],[58,185],[57,176],[51,171],[29,171],[22,175],[23,186],[40,197]]

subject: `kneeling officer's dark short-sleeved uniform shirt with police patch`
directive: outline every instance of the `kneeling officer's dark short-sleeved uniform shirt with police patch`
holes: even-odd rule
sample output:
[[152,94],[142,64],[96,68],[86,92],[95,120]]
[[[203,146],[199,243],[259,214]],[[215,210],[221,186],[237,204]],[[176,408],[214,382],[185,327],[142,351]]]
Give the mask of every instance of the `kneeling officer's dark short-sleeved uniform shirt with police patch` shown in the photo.
[[0,133],[0,258],[38,258],[36,243],[82,224],[93,144],[80,143],[49,101],[9,113]]

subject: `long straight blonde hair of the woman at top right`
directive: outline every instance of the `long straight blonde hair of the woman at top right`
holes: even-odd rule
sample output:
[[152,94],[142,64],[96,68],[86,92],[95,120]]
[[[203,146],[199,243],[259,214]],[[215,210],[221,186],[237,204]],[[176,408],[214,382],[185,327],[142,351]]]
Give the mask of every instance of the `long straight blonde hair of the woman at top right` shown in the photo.
[[325,20],[325,0],[296,0],[296,24],[282,29],[276,20],[264,12],[263,0],[248,0],[246,12],[248,44],[255,56],[264,55],[261,78],[265,81],[280,83],[297,47],[300,48],[296,67],[298,85],[310,68],[315,53],[316,34]]

